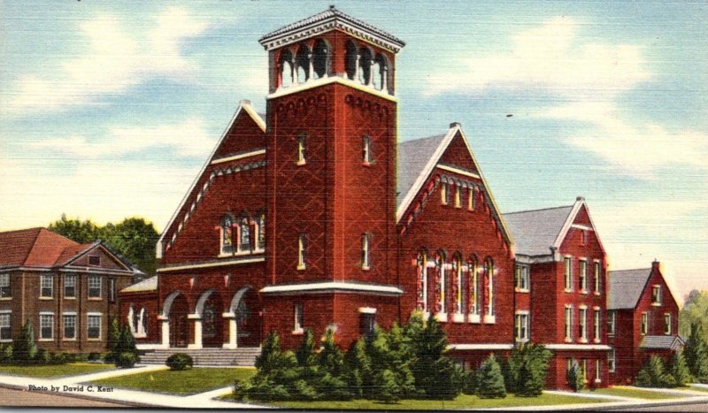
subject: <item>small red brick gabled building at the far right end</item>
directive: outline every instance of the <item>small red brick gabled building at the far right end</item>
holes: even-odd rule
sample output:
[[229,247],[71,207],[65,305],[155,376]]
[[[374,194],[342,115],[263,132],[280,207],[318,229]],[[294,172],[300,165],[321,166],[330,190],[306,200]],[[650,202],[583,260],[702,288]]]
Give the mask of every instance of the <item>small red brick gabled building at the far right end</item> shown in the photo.
[[612,384],[633,382],[651,356],[668,362],[683,347],[679,305],[657,261],[650,268],[610,272],[607,310]]

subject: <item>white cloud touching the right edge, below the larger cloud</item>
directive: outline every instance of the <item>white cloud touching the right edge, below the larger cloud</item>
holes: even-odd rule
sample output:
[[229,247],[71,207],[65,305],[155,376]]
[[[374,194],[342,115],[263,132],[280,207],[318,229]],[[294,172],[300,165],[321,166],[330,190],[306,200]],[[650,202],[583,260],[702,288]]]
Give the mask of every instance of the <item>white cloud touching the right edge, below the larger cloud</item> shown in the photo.
[[[586,124],[566,137],[574,146],[603,157],[638,178],[651,178],[660,168],[708,168],[708,135],[689,129],[669,131],[655,124],[631,125],[615,103],[568,103],[532,113],[535,118],[573,120]],[[591,127],[588,127],[591,126]]]

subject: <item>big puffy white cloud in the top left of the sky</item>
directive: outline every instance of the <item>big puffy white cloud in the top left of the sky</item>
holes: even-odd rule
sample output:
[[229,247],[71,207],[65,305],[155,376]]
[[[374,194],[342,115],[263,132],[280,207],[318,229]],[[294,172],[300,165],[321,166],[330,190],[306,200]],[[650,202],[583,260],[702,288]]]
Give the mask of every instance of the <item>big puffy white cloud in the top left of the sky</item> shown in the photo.
[[77,104],[101,104],[106,94],[123,93],[152,77],[194,78],[198,66],[186,59],[181,42],[207,27],[187,11],[170,8],[158,16],[147,34],[120,27],[119,19],[101,16],[84,21],[89,41],[85,56],[65,60],[57,76],[27,75],[5,104],[10,112],[58,110]]

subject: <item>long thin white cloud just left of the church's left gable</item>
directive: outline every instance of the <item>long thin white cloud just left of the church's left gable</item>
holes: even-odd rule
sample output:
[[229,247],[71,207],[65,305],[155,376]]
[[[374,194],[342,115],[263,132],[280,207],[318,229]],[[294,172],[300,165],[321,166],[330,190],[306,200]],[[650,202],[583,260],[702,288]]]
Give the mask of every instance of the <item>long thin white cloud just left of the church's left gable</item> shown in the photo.
[[100,141],[86,136],[29,143],[32,149],[50,149],[80,158],[120,156],[144,149],[171,148],[181,157],[203,159],[216,141],[207,134],[202,119],[186,119],[174,125],[114,127]]

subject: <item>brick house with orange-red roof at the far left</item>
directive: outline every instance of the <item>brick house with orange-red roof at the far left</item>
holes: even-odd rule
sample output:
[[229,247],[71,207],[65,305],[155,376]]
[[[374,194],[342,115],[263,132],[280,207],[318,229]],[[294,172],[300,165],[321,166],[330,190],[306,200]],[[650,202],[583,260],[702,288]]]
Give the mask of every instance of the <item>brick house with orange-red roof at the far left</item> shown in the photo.
[[44,228],[0,233],[0,342],[26,320],[39,348],[105,350],[118,290],[142,274],[101,241],[79,244]]

